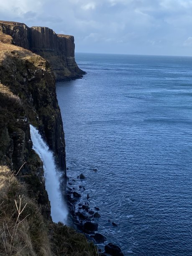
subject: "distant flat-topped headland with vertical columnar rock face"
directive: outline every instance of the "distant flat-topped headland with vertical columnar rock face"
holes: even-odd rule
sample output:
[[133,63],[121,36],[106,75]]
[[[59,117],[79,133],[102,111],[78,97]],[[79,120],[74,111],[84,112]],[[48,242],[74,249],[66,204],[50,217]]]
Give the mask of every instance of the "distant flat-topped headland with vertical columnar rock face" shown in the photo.
[[46,27],[0,21],[0,31],[12,36],[13,44],[29,49],[49,61],[57,81],[82,77],[74,58],[74,36],[56,34]]

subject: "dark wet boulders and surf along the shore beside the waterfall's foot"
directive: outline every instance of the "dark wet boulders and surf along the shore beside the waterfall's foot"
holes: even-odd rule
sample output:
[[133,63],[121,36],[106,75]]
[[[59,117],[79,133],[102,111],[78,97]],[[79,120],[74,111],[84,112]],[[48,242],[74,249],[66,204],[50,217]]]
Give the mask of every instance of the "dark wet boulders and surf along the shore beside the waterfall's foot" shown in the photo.
[[[93,171],[97,172],[97,169],[93,169]],[[71,222],[73,228],[78,230],[80,233],[84,233],[88,240],[93,241],[97,245],[100,256],[123,256],[120,247],[113,243],[106,244],[105,250],[102,252],[100,244],[103,246],[107,241],[107,238],[101,233],[97,232],[97,220],[101,217],[100,208],[91,204],[91,198],[88,193],[86,193],[87,196],[82,202],[82,194],[86,191],[86,188],[82,184],[84,179],[86,179],[86,177],[84,177],[83,174],[77,176],[77,179],[70,179],[67,177],[67,205],[69,208],[69,222]],[[113,221],[108,221],[111,222],[113,226],[118,226]]]

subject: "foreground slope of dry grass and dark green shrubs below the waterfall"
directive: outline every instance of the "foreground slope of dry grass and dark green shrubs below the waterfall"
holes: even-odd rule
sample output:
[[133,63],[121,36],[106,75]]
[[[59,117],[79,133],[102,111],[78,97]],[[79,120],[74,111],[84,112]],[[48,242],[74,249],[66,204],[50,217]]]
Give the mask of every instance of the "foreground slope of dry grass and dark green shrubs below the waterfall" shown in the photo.
[[95,246],[62,223],[45,223],[7,166],[0,166],[0,255],[93,256]]

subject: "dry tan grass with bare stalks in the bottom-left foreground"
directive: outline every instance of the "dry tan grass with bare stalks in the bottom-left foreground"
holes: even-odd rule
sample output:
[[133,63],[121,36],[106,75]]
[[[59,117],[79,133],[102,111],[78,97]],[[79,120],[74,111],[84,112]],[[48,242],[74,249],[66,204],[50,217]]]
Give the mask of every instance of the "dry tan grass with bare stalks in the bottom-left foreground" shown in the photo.
[[25,187],[0,166],[0,255],[51,256],[44,220]]

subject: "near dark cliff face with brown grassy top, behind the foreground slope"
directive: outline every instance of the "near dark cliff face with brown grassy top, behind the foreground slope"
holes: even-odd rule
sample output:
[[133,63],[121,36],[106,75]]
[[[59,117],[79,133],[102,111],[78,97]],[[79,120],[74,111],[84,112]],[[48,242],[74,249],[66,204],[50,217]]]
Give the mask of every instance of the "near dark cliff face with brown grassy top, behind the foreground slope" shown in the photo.
[[54,151],[65,191],[65,141],[54,74],[41,56],[8,43],[0,43],[0,120],[0,162],[28,184],[29,194],[37,198],[49,219],[43,165],[32,149],[29,123],[41,131]]

